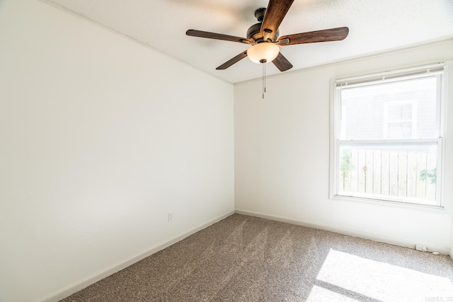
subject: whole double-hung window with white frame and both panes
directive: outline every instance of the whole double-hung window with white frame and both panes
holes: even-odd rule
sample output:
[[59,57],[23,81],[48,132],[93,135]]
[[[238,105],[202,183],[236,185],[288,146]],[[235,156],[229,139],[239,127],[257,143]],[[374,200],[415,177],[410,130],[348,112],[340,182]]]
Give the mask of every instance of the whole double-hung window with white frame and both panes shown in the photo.
[[441,207],[443,65],[334,82],[331,193]]

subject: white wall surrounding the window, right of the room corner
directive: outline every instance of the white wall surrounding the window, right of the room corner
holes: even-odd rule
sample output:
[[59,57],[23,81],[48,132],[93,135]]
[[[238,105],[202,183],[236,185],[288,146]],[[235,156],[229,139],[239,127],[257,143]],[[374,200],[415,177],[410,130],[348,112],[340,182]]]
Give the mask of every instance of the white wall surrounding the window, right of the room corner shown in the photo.
[[[332,51],[335,51],[334,47]],[[329,199],[329,81],[452,58],[453,40],[449,40],[412,50],[294,71],[268,78],[264,100],[261,98],[260,79],[236,84],[236,210],[389,243],[423,244],[432,250],[449,252],[453,197],[453,91],[449,91],[449,125],[445,139],[447,170],[444,171],[443,197],[447,209],[440,211]],[[453,79],[452,69],[449,70],[449,79]]]

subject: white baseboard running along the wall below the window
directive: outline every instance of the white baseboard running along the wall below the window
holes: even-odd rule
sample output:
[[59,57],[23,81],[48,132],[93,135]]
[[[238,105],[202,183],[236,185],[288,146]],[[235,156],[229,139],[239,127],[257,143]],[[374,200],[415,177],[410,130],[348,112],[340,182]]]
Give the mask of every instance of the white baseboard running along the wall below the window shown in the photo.
[[[260,218],[269,219],[269,220],[273,220],[273,221],[291,223],[291,224],[295,224],[297,226],[306,226],[308,228],[318,228],[318,229],[324,230],[324,231],[331,231],[331,232],[340,233],[343,235],[365,238],[365,239],[369,239],[369,240],[373,240],[373,241],[377,241],[377,242],[389,243],[392,245],[399,245],[399,246],[403,246],[406,248],[415,249],[415,243],[412,243],[408,240],[401,240],[401,238],[392,238],[392,237],[387,237],[387,236],[381,236],[379,234],[360,232],[360,231],[355,231],[355,230],[350,230],[350,229],[345,229],[345,228],[333,228],[331,226],[323,226],[321,224],[308,223],[308,222],[299,221],[296,219],[289,219],[289,218],[285,218],[285,217],[263,214],[263,213],[258,213],[258,212],[254,212],[254,211],[246,211],[246,210],[241,210],[241,209],[236,209],[236,213],[248,215],[248,216],[260,217]],[[427,246],[427,248],[430,251],[440,252],[440,254],[442,254],[442,255],[450,255],[450,257],[453,260],[453,251],[449,250],[448,248],[439,248],[439,247],[435,247],[435,246]]]

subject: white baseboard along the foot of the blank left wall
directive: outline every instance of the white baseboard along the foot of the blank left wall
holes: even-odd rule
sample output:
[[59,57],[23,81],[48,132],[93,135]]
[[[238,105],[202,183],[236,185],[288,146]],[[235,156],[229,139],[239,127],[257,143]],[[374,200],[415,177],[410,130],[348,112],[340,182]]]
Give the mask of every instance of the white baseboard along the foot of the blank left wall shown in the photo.
[[149,248],[148,250],[146,250],[144,252],[140,252],[139,254],[129,257],[120,262],[117,262],[114,265],[111,265],[110,267],[106,267],[105,269],[103,269],[99,272],[96,272],[96,273],[92,274],[91,276],[86,277],[85,279],[76,281],[73,284],[70,284],[69,286],[64,287],[63,289],[54,291],[53,293],[45,296],[44,298],[40,299],[39,301],[40,302],[60,301],[63,298],[71,296],[71,294],[74,294],[77,291],[80,291],[81,289],[84,289],[87,286],[90,286],[91,284],[95,284],[97,281],[100,281],[100,280],[104,279],[105,277],[110,276],[111,274],[115,274],[115,272],[119,272],[121,269],[125,269],[126,267],[133,265],[135,262],[139,262],[140,260],[142,260],[148,256],[151,256],[156,252],[159,252],[159,250],[164,250],[164,248],[168,248],[170,245],[173,245],[173,244],[177,243],[178,241],[183,240],[184,238],[187,238],[188,236],[193,235],[194,233],[197,233],[198,231],[201,231],[203,228],[207,228],[208,226],[211,226],[212,224],[214,224],[218,221],[221,221],[222,219],[225,219],[228,216],[231,216],[232,214],[234,214],[234,211],[229,211],[226,214],[216,217],[215,219],[207,221],[206,223],[202,223],[200,226],[197,226],[196,228],[193,228],[192,230],[185,232],[185,233],[181,234],[180,236],[172,238],[171,240],[168,240],[164,243],[154,245],[153,247]]

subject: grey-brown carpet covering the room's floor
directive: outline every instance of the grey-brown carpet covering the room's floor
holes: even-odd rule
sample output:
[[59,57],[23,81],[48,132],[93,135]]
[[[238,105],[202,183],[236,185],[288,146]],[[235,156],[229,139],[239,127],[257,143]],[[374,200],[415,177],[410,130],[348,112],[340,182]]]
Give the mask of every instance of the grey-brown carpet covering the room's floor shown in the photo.
[[234,214],[69,301],[453,301],[453,262]]

